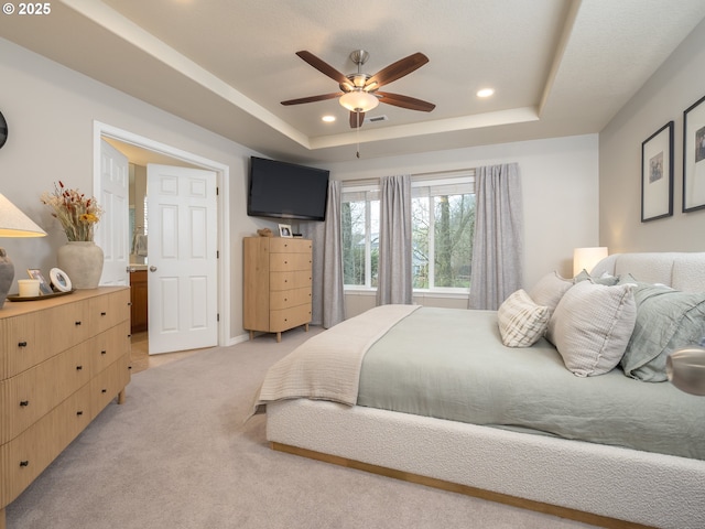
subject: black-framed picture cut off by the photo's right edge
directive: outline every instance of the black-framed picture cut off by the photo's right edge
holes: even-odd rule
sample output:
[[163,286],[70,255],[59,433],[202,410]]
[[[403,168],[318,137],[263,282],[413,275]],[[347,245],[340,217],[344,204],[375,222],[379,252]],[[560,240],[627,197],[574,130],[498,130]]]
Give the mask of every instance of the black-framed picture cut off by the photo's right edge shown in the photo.
[[683,111],[683,213],[705,208],[705,96]]

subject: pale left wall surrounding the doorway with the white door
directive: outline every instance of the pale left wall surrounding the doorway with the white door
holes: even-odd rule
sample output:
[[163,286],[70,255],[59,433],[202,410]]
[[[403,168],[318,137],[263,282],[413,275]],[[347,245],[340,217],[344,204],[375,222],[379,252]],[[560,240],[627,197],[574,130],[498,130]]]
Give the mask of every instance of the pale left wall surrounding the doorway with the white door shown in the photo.
[[56,249],[66,239],[40,195],[53,190],[57,180],[93,193],[96,120],[229,166],[230,196],[225,199],[230,206],[231,241],[220,250],[231,252],[230,334],[241,335],[241,240],[268,224],[246,213],[248,159],[256,153],[2,39],[0,79],[0,110],[9,126],[0,150],[0,193],[50,234],[0,241],[15,266],[10,292],[17,292],[17,278],[26,268],[46,274],[56,266]]

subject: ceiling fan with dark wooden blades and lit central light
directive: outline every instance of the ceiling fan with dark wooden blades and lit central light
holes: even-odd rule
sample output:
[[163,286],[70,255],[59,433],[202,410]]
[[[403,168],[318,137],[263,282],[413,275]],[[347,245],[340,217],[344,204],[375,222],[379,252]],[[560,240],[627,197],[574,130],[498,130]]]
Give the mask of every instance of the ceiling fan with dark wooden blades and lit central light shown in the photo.
[[395,63],[390,64],[386,68],[380,69],[375,75],[361,72],[361,66],[369,58],[369,53],[365,50],[357,50],[350,53],[350,60],[357,64],[357,73],[344,75],[329,64],[316,57],[313,53],[301,51],[296,52],[311,66],[316,68],[324,75],[338,83],[341,91],[332,94],[323,94],[321,96],[302,97],[300,99],[289,99],[282,101],[282,105],[301,105],[304,102],[323,101],[326,99],[339,98],[340,105],[350,110],[350,127],[357,129],[362,126],[365,112],[372,110],[379,102],[393,105],[395,107],[408,108],[410,110],[420,110],[430,112],[435,105],[429,101],[416,99],[415,97],[402,96],[400,94],[391,94],[389,91],[378,91],[378,89],[404,75],[411,74],[429,62],[423,53],[414,53]]

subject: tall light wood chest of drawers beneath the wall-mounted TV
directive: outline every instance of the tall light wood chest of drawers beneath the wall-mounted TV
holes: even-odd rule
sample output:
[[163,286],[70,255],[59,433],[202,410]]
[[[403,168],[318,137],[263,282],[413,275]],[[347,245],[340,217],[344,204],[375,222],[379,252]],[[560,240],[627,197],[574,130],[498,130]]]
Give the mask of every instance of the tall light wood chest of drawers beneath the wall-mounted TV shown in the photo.
[[276,333],[311,323],[313,245],[286,237],[245,238],[243,326]]

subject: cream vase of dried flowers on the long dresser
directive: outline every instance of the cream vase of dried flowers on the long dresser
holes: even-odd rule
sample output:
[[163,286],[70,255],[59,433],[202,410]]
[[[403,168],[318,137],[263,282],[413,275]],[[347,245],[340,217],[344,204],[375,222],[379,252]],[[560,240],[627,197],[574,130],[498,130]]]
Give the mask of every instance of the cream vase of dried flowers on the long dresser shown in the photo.
[[62,181],[54,184],[54,192],[44,192],[42,203],[53,209],[68,242],[58,249],[58,268],[72,278],[75,289],[95,289],[102,274],[102,249],[94,240],[94,227],[100,220],[102,208],[95,197],[78,190],[67,188]]

